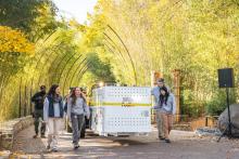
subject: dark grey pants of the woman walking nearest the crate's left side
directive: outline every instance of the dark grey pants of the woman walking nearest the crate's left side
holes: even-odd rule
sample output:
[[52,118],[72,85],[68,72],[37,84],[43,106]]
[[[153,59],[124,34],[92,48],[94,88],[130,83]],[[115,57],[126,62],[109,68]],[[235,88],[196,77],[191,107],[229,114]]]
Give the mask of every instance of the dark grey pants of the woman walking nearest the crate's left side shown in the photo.
[[80,131],[85,121],[84,115],[71,115],[72,118],[72,130],[73,130],[73,143],[78,144],[80,138]]

